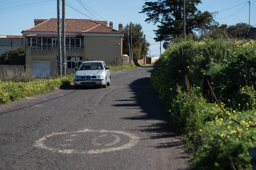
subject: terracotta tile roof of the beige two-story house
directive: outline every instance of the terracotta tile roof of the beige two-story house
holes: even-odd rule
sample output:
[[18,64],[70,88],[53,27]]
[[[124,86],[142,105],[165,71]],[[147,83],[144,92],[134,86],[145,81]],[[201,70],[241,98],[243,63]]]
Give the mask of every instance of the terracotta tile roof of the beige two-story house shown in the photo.
[[[90,19],[66,19],[65,23],[67,33],[81,33],[87,30],[91,30],[88,33],[123,33],[102,25],[106,24],[107,21],[92,21]],[[92,29],[97,25],[99,28]],[[47,19],[30,29],[23,30],[22,33],[23,32],[57,32],[57,18]]]

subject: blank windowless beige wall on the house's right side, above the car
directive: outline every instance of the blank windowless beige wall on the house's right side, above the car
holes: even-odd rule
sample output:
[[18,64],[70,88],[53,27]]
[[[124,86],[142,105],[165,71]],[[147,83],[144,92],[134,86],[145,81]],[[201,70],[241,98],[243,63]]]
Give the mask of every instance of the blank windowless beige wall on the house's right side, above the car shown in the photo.
[[121,60],[122,39],[122,37],[110,36],[84,36],[85,59],[112,61],[119,58]]

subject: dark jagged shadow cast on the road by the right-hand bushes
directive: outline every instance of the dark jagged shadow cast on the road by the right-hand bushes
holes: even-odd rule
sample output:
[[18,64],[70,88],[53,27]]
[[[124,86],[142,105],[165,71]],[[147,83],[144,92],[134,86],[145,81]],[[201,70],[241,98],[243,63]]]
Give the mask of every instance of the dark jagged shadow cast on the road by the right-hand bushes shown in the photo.
[[[138,112],[137,115],[132,117],[124,117],[122,119],[128,120],[158,120],[158,123],[153,123],[147,126],[140,126],[138,131],[144,131],[148,133],[148,138],[158,139],[158,138],[173,138],[175,141],[170,141],[170,143],[159,143],[156,146],[148,146],[156,149],[168,148],[173,146],[182,145],[179,140],[179,134],[175,125],[169,117],[169,112],[164,110],[164,106],[157,99],[157,96],[153,92],[150,86],[149,77],[141,78],[133,81],[129,88],[130,91],[135,95],[131,99],[118,100],[123,101],[121,104],[114,104],[116,107],[136,107],[142,110]],[[125,103],[129,101],[129,103]],[[133,102],[132,102],[133,101]],[[132,102],[132,103],[131,103]],[[130,108],[132,109],[132,108]],[[134,108],[135,109],[135,108]],[[144,113],[144,114],[143,114]],[[160,120],[160,121],[159,121]]]

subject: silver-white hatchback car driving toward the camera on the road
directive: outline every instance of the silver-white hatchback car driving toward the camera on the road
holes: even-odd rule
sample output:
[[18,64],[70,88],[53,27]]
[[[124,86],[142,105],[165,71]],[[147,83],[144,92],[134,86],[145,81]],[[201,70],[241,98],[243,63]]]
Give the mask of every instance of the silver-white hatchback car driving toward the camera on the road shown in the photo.
[[76,69],[74,75],[75,89],[78,86],[102,86],[106,88],[110,85],[110,71],[109,67],[104,61],[84,61]]

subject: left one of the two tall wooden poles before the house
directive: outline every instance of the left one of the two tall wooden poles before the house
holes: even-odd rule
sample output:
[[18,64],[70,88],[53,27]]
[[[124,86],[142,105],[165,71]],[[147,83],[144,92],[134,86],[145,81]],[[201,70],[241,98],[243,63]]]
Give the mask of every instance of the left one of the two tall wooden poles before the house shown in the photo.
[[[61,62],[61,40],[60,40],[60,0],[57,0],[57,22],[58,22],[58,60],[59,60],[59,76],[62,77],[62,62]],[[56,43],[56,42],[55,42]]]

